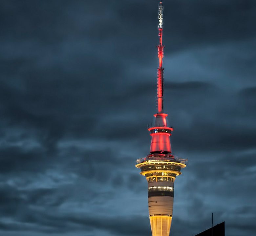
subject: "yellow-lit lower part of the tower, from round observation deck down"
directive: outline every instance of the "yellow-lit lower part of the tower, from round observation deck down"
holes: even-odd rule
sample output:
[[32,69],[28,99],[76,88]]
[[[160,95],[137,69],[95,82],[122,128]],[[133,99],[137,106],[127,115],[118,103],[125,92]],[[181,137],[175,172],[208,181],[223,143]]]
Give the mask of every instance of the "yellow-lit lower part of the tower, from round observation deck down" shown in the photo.
[[171,154],[149,154],[136,167],[148,182],[148,210],[152,236],[169,236],[172,223],[174,181],[186,167]]

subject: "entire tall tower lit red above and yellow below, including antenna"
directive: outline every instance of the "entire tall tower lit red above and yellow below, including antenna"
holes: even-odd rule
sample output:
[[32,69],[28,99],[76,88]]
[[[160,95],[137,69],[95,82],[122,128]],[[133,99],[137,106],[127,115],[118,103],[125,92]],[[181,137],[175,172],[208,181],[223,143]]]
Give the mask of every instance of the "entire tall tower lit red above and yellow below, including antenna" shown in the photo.
[[170,233],[174,181],[181,174],[181,168],[186,167],[186,159],[178,159],[172,155],[170,136],[173,128],[166,123],[167,114],[163,112],[164,74],[162,67],[163,49],[163,5],[158,6],[158,58],[157,73],[157,110],[155,124],[148,128],[152,137],[150,154],[137,160],[137,168],[148,182],[148,209],[152,236],[168,236]]

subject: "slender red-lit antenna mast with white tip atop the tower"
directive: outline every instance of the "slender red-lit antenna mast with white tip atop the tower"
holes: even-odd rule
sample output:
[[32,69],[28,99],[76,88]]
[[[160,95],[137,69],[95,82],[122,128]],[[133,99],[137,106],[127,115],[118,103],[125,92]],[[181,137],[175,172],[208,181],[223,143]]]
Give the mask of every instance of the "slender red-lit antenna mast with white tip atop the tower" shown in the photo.
[[158,58],[159,58],[159,67],[157,72],[157,109],[158,113],[163,113],[163,49],[162,36],[163,36],[163,4],[159,3],[158,6],[158,32],[159,32],[159,45],[158,48]]

